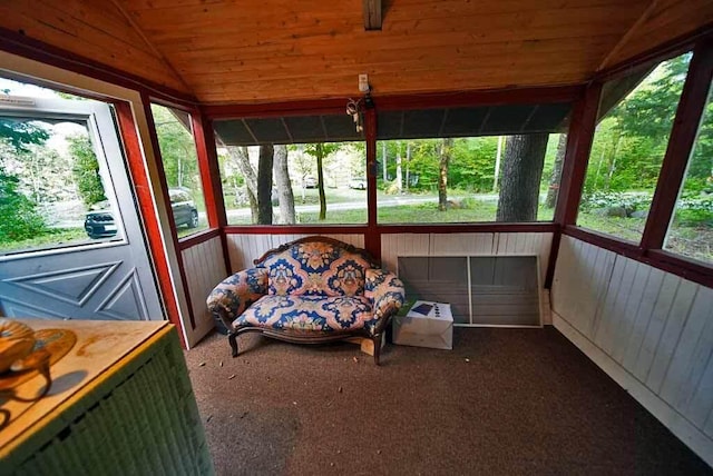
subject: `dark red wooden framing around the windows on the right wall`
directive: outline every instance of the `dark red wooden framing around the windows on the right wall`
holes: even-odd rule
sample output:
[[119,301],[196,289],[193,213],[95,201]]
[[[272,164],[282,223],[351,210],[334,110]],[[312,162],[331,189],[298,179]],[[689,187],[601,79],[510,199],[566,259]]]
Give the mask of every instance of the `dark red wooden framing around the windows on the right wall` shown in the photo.
[[[693,57],[691,58],[688,72],[678,100],[673,128],[668,137],[666,152],[641,241],[632,244],[611,235],[577,226],[577,210],[582,199],[584,178],[594,138],[602,86],[607,80],[625,76],[627,71],[636,66],[654,65],[685,51],[692,51]],[[695,146],[695,138],[712,80],[713,38],[707,36],[676,44],[660,52],[657,56],[644,57],[638,62],[629,61],[625,67],[604,71],[587,87],[585,97],[579,105],[579,113],[575,118],[575,121],[579,122],[579,127],[575,129],[577,137],[570,138],[573,142],[572,156],[568,150],[565,161],[565,166],[568,166],[569,170],[567,172],[568,182],[566,184],[568,188],[567,197],[560,195],[560,199],[564,202],[560,221],[563,234],[685,279],[713,287],[713,264],[709,265],[663,249],[666,232],[675,212],[678,194],[685,179],[691,152]],[[551,282],[551,277],[548,276],[548,278]]]

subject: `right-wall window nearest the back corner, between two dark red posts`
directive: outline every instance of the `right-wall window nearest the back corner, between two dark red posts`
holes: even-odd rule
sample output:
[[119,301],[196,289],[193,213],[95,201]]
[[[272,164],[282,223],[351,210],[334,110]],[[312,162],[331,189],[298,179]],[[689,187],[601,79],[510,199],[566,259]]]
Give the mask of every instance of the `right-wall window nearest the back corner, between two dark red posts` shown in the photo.
[[607,82],[577,225],[638,242],[691,54]]

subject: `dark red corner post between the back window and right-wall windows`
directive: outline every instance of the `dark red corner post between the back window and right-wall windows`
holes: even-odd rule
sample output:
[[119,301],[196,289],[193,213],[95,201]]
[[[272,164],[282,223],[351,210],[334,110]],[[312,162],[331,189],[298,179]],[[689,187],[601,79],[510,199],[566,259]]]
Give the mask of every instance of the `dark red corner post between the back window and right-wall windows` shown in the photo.
[[559,196],[557,197],[558,215],[556,215],[556,220],[563,225],[574,225],[577,220],[589,151],[597,126],[600,95],[600,82],[589,85],[585,91],[583,103],[577,105],[577,109],[582,108],[582,112],[577,113],[576,123],[570,128],[570,131],[576,133],[567,140],[567,153],[563,166],[564,182],[559,187]]

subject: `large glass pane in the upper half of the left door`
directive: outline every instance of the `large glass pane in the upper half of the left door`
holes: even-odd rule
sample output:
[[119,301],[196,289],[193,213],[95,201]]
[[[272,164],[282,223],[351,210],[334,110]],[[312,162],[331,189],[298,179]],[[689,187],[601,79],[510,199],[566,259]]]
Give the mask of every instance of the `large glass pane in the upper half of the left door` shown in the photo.
[[0,88],[0,255],[123,240],[92,119],[107,106],[7,79]]

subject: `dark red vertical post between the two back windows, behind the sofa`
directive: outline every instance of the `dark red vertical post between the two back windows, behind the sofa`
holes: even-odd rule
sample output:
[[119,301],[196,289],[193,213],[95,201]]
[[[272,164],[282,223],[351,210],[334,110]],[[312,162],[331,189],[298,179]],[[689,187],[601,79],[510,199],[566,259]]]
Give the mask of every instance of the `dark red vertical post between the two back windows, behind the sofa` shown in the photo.
[[364,132],[367,139],[367,235],[364,248],[381,262],[381,232],[377,226],[377,111],[367,109]]

